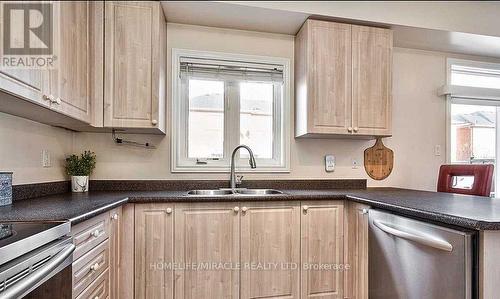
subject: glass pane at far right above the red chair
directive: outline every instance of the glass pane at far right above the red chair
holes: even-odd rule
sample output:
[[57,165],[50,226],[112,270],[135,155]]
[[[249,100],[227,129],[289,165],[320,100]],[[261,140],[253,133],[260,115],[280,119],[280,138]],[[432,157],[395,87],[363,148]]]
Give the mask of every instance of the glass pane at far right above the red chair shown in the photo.
[[451,162],[495,163],[496,107],[451,105]]

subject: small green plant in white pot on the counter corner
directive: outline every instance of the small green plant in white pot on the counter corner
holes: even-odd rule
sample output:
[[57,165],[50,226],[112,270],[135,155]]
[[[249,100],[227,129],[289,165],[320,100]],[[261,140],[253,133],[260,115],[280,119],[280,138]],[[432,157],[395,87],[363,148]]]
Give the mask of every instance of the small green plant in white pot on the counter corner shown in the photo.
[[73,192],[89,191],[89,176],[94,171],[96,155],[91,151],[84,151],[80,156],[70,155],[66,158],[66,173],[71,176],[71,190]]

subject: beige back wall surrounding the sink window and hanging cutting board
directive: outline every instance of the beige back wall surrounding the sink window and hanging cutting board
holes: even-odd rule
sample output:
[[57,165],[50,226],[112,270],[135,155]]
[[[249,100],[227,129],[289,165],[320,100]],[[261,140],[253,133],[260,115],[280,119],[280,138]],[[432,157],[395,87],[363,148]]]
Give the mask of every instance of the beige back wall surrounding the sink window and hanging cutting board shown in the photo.
[[[171,48],[279,56],[289,58],[293,64],[292,36],[170,23],[167,33],[169,99]],[[405,49],[395,49],[394,52],[394,135],[387,139],[386,144],[395,151],[395,169],[387,180],[370,180],[369,185],[434,190],[437,169],[445,161],[445,102],[436,95],[436,90],[445,82],[446,56]],[[167,109],[170,112],[170,103]],[[293,119],[293,108],[291,115]],[[291,132],[293,131],[292,123]],[[75,133],[77,151],[92,149],[97,153],[98,164],[94,179],[228,178],[227,174],[172,174],[169,134],[127,137],[150,141],[157,149],[117,146],[113,144],[109,134]],[[249,173],[246,178],[367,178],[362,166],[352,169],[351,159],[355,158],[362,164],[363,151],[373,141],[294,139],[291,136],[290,142],[289,174]],[[433,153],[436,144],[443,151],[440,157]],[[324,171],[323,157],[327,153],[334,154],[337,159],[337,167],[333,173]]]

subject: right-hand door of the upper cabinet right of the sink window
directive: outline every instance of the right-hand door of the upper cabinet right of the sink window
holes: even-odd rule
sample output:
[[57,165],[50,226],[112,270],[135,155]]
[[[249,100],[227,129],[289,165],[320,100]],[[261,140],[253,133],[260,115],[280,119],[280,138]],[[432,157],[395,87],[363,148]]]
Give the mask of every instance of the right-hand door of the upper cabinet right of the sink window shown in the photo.
[[392,31],[352,25],[353,130],[390,135],[392,113]]

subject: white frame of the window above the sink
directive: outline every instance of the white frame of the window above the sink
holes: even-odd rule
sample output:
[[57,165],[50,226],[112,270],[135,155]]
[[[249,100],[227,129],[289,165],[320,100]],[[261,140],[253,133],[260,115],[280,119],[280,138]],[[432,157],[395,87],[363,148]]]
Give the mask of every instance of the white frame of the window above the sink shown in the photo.
[[[172,142],[171,142],[171,171],[172,172],[229,172],[229,163],[231,159],[232,144],[237,144],[235,140],[224,142],[225,156],[219,160],[203,160],[207,164],[196,164],[195,159],[187,158],[187,116],[188,111],[186,103],[183,102],[186,86],[183,86],[183,80],[180,78],[180,59],[181,57],[196,57],[203,59],[215,59],[226,61],[237,61],[242,63],[267,63],[283,66],[283,87],[281,103],[274,105],[273,112],[275,116],[273,121],[273,135],[279,133],[280,142],[273,142],[273,152],[278,153],[279,160],[269,163],[269,159],[256,159],[257,168],[250,169],[248,159],[236,159],[236,166],[240,172],[290,172],[290,59],[281,57],[267,57],[212,51],[197,51],[187,49],[172,49]],[[184,84],[185,85],[185,84]],[[235,92],[234,86],[228,84],[225,86],[225,93]],[[276,88],[275,88],[275,92]],[[276,98],[276,97],[275,97]],[[232,103],[232,107],[228,107],[227,96],[225,101],[225,109],[236,109],[239,111],[239,102]],[[277,105],[281,106],[281,113],[276,113]],[[238,107],[235,107],[238,106]],[[229,123],[237,123],[237,126],[231,126],[232,130],[238,130],[239,123],[233,120],[224,118],[224,131],[229,130]],[[236,127],[236,128],[235,128]],[[277,128],[280,128],[279,132]],[[227,135],[226,133],[224,135]],[[234,135],[234,134],[229,134]],[[267,162],[267,163],[266,163]]]

